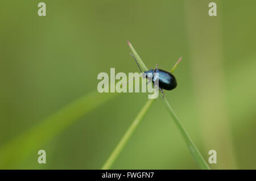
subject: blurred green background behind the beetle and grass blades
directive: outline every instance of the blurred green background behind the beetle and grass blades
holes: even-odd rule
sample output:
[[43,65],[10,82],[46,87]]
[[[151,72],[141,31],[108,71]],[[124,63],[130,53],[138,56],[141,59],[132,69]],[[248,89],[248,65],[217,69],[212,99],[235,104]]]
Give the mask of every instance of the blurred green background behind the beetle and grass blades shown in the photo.
[[[98,73],[138,71],[127,40],[148,68],[171,70],[183,56],[174,73],[178,86],[165,94],[205,160],[217,151],[209,166],[256,169],[254,0],[44,0],[46,17],[38,16],[39,2],[1,1],[1,169],[101,168],[147,94],[107,101],[101,96],[109,94],[96,93],[79,119],[33,130],[96,92]],[[217,3],[217,16],[208,15],[209,2]],[[38,163],[40,149],[46,164]],[[199,167],[156,100],[112,169]]]

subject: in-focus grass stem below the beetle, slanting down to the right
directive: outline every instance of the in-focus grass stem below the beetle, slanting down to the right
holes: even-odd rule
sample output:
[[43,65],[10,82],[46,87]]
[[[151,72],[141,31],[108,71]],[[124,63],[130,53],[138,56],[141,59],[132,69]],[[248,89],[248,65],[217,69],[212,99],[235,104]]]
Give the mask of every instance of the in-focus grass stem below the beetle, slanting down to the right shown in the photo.
[[202,157],[200,151],[196,148],[196,145],[193,143],[191,138],[188,136],[188,133],[185,131],[184,127],[181,125],[179,119],[175,115],[174,110],[172,110],[172,107],[168,103],[166,97],[164,97],[163,102],[164,102],[164,105],[166,106],[168,112],[170,113],[172,119],[174,119],[174,122],[175,122],[177,128],[179,129],[181,135],[183,136],[183,138],[188,146],[188,149],[189,149],[192,157],[194,158],[195,162],[199,165],[200,169],[205,169],[205,170],[210,169],[210,167],[207,165],[204,158]]

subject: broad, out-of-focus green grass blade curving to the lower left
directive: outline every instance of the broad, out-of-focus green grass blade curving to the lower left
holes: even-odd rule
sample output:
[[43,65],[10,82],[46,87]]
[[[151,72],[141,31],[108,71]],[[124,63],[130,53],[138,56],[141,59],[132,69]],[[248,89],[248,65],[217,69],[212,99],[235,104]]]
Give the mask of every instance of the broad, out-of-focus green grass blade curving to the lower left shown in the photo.
[[114,95],[116,94],[101,94],[94,91],[53,113],[29,131],[2,146],[0,149],[0,168],[13,169],[32,151],[40,149],[40,146],[46,144],[86,113],[113,98]]

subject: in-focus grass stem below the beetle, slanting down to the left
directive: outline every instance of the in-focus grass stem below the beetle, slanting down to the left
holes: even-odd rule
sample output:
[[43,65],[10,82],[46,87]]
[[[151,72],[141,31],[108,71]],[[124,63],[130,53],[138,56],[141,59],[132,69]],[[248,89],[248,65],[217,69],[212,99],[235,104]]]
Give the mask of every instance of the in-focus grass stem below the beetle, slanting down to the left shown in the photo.
[[119,153],[122,151],[123,147],[126,145],[127,141],[130,139],[131,134],[135,131],[138,124],[141,122],[143,116],[146,114],[152,103],[155,99],[148,99],[142,110],[139,112],[137,117],[134,119],[133,123],[130,125],[130,127],[127,129],[126,133],[123,135],[121,140],[118,142],[117,146],[115,146],[115,149],[110,154],[107,161],[104,163],[104,165],[101,167],[102,170],[108,170],[112,166],[115,159],[118,157]]

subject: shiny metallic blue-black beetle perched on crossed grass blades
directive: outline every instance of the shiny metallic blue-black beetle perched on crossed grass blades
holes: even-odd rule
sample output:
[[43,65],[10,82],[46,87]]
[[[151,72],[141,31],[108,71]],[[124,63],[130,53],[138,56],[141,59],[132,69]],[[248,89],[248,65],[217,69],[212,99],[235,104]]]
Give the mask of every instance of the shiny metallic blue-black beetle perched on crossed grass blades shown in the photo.
[[[141,68],[139,67],[139,64],[138,64],[136,58],[134,57],[134,55],[131,53],[130,53],[130,55],[134,58],[137,66],[139,68],[139,71],[141,71]],[[182,57],[179,58],[179,60],[177,61],[177,63],[175,64],[175,66],[172,70],[174,70],[176,68],[176,66],[180,62],[181,58]],[[165,71],[162,69],[158,69],[158,64],[156,64],[156,67],[154,70],[150,69],[150,70],[147,70],[144,72],[141,71],[141,73],[142,73],[143,78],[148,79],[147,84],[152,81],[155,86],[155,82],[158,82],[158,85],[156,85],[156,86],[159,87],[159,90],[162,92],[163,97],[164,97],[163,89],[164,90],[172,90],[177,87],[177,81],[176,81],[176,78],[174,77],[174,75],[171,72],[168,72],[168,71]],[[158,75],[157,77],[155,76],[156,73]],[[135,78],[133,78],[133,79],[135,79]]]

